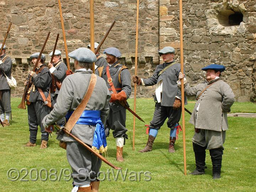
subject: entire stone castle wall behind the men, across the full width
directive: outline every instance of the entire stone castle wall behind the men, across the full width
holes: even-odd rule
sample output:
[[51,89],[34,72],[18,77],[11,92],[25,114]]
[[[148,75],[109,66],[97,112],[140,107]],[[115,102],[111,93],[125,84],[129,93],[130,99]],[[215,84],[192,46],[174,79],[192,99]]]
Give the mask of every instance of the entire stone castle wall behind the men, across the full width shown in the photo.
[[[62,11],[68,51],[90,43],[89,0],[62,0]],[[134,74],[135,27],[137,0],[95,0],[95,41],[100,42],[113,20],[113,27],[102,46],[117,47],[122,52],[120,62]],[[48,31],[51,31],[44,54],[47,62],[57,33],[57,49],[64,43],[58,1],[0,0],[4,12],[0,21],[0,41],[9,22],[12,27],[6,41],[7,53],[13,59],[13,76],[18,88],[13,96],[21,96],[23,81],[31,69],[29,56],[39,52]],[[159,48],[174,47],[180,54],[178,0],[140,1],[138,75],[149,77],[162,63]],[[229,23],[229,16],[242,14],[239,25]],[[256,6],[254,0],[183,0],[183,48],[188,81],[195,85],[204,80],[203,66],[223,64],[224,79],[234,90],[236,101],[256,100]],[[72,65],[72,60],[71,60]],[[71,66],[73,68],[73,66]],[[137,87],[138,97],[151,97],[152,87]],[[132,95],[133,96],[133,95]]]

